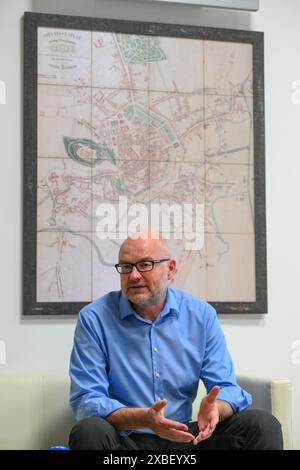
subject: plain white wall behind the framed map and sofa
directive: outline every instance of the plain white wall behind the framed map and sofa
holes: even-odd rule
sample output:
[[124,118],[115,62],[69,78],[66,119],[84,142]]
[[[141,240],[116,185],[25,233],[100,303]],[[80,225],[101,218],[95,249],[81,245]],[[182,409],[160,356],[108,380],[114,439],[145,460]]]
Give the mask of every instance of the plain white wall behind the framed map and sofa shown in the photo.
[[0,341],[6,345],[6,364],[2,357],[0,373],[66,370],[76,321],[21,316],[24,11],[265,32],[269,314],[222,316],[221,322],[238,372],[291,379],[294,445],[300,449],[300,363],[292,361],[292,345],[300,340],[300,104],[291,100],[292,82],[300,79],[300,2],[261,0],[259,12],[241,13],[134,0],[1,0],[0,80],[6,83],[7,96],[6,104],[0,104]]

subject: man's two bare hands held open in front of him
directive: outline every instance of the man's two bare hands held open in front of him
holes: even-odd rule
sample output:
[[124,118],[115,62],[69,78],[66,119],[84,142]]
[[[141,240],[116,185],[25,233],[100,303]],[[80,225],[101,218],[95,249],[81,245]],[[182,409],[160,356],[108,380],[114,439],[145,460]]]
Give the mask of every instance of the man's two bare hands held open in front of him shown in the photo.
[[199,433],[194,436],[188,432],[188,426],[178,421],[165,418],[165,407],[167,400],[156,401],[149,408],[149,427],[163,439],[173,442],[192,442],[198,444],[204,439],[208,439],[214,432],[219,422],[219,408],[217,395],[220,387],[214,386],[203,398],[198,413]]

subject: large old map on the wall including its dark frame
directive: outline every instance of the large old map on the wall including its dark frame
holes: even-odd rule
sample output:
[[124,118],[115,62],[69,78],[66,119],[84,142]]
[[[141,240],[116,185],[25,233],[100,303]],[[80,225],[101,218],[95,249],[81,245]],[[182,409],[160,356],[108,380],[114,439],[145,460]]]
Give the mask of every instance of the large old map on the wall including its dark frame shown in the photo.
[[154,207],[174,287],[267,313],[263,33],[39,13],[24,30],[23,314],[119,289],[123,235]]

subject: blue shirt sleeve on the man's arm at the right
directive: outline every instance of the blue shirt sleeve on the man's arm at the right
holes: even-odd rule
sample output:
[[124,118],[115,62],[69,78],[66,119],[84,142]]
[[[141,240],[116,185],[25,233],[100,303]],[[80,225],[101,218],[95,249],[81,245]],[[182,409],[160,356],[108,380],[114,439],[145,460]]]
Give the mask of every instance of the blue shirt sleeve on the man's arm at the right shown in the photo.
[[207,393],[218,385],[221,390],[217,399],[227,401],[234,412],[242,411],[251,405],[252,397],[237,384],[233,362],[214,308],[208,305],[206,313],[206,346],[200,378]]

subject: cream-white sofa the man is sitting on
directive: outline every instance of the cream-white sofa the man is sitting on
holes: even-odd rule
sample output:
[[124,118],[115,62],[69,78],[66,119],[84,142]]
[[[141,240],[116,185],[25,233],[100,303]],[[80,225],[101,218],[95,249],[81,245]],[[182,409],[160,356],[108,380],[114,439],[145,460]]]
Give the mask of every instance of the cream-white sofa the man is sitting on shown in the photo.
[[[253,406],[281,422],[285,449],[292,448],[291,387],[285,379],[239,377],[253,395]],[[67,375],[0,374],[0,449],[47,449],[66,445],[75,423],[68,404]],[[193,418],[205,393],[199,387]]]

